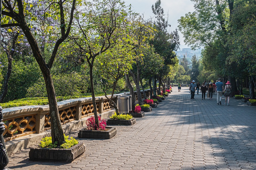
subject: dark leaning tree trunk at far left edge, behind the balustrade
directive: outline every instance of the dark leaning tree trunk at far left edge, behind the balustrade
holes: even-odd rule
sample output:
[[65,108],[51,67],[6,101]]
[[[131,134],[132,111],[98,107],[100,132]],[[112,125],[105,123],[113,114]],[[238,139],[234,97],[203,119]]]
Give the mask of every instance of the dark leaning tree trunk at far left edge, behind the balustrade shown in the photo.
[[8,60],[8,67],[7,67],[7,72],[6,72],[4,81],[3,81],[3,91],[2,91],[2,94],[0,96],[0,103],[3,103],[3,99],[5,98],[5,96],[7,94],[8,82],[9,82],[9,79],[10,79],[10,76],[11,76],[11,70],[12,70],[12,65],[11,64],[12,64],[13,58],[10,55],[9,52],[6,52],[6,54],[7,54],[7,60]]

